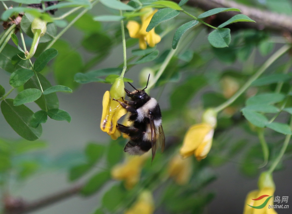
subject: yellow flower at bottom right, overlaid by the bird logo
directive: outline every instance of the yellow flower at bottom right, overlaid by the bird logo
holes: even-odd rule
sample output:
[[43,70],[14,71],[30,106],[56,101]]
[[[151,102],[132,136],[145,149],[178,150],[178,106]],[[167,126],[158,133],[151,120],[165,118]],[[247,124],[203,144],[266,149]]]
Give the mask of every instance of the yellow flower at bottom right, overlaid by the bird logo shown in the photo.
[[[271,208],[271,206],[274,205],[275,192],[275,184],[272,179],[272,175],[267,172],[263,172],[260,175],[258,187],[259,189],[253,190],[247,194],[243,214],[277,214],[274,208]],[[263,208],[257,209],[251,207],[262,205],[269,196],[272,197],[270,197],[267,204]]]

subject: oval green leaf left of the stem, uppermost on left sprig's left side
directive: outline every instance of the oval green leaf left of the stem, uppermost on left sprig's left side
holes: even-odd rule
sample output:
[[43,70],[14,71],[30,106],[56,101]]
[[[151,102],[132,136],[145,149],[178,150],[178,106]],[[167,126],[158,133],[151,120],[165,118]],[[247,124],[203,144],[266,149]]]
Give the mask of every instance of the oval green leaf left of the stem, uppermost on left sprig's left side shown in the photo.
[[34,72],[32,70],[29,70],[26,68],[18,69],[11,74],[10,79],[9,79],[9,84],[14,88],[22,86],[33,75],[34,75]]

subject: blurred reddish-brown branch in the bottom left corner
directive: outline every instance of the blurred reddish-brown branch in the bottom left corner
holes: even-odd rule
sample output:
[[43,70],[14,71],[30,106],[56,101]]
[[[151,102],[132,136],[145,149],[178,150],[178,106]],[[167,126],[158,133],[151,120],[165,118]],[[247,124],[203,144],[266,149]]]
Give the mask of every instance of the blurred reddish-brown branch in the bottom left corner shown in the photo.
[[39,199],[33,202],[25,202],[22,199],[6,197],[4,199],[5,209],[3,214],[23,214],[43,208],[45,206],[51,205],[53,203],[62,201],[78,194],[82,187],[83,185],[77,185],[75,187],[71,187],[62,192],[47,196],[43,199]]

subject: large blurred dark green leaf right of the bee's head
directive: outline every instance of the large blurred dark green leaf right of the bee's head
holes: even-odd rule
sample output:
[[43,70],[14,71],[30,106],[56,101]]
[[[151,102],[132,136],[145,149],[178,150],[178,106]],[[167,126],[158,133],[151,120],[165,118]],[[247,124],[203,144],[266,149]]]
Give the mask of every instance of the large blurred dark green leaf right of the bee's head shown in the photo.
[[187,78],[187,81],[176,87],[170,96],[170,105],[172,109],[183,110],[193,95],[206,85],[206,79],[203,76],[193,76]]

